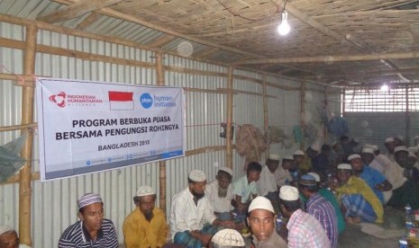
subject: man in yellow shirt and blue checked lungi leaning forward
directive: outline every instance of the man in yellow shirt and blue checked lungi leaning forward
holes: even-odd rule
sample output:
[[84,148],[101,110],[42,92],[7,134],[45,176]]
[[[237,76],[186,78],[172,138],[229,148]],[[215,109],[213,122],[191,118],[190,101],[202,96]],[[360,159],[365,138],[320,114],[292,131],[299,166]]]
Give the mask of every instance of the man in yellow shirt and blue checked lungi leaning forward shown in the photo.
[[338,193],[347,223],[360,221],[383,223],[384,209],[376,194],[362,179],[352,175],[351,164],[339,164],[338,182],[330,187]]

